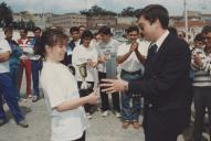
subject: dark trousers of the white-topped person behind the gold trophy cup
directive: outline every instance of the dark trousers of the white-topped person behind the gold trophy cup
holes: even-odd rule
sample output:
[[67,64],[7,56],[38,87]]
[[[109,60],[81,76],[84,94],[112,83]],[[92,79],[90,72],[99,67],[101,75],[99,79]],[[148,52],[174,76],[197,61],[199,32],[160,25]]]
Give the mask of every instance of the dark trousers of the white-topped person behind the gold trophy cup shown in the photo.
[[[94,82],[87,82],[87,83],[91,85],[91,87],[88,89],[81,89],[82,82],[77,82],[78,89],[80,89],[80,97],[85,97],[85,96],[88,96],[91,93],[93,93]],[[84,109],[86,112],[91,113],[92,112],[92,105],[85,104]]]

